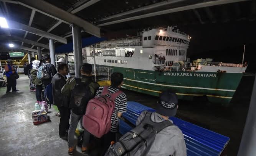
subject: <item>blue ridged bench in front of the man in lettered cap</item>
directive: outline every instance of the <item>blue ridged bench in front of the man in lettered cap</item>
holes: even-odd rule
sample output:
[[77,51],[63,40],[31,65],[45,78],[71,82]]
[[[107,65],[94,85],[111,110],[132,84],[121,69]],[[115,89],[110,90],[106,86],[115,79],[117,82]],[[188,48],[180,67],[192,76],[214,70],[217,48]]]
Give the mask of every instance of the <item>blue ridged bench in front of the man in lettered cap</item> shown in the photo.
[[[127,112],[123,113],[122,117],[129,121],[130,124],[135,125],[137,118],[144,110],[155,111],[140,103],[129,101],[127,103]],[[170,117],[170,119],[183,132],[187,146],[187,156],[220,156],[230,140],[228,137],[176,117]],[[120,120],[119,132],[121,134],[129,132],[131,129],[132,127],[129,124]]]

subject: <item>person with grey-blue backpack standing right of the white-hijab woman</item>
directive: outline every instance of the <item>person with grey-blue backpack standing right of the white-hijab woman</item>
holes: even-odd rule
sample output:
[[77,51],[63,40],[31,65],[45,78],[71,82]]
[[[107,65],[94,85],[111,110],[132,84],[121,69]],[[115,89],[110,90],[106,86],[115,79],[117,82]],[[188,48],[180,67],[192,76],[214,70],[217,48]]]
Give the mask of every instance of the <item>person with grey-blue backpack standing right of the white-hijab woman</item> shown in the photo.
[[49,85],[51,83],[51,79],[53,78],[53,76],[57,73],[56,68],[53,64],[51,64],[51,58],[50,55],[45,55],[43,56],[43,60],[45,61],[45,70],[46,72],[49,74],[49,79],[43,79],[43,87],[45,88],[45,99],[46,98],[46,87],[47,85]]

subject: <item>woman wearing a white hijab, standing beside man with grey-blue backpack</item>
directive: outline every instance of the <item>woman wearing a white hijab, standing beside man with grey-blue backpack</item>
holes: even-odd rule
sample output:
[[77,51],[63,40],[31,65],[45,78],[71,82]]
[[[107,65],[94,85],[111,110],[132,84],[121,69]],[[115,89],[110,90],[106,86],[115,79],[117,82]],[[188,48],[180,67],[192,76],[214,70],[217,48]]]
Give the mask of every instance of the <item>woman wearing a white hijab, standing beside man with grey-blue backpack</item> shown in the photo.
[[31,77],[32,77],[32,80],[33,80],[33,84],[36,85],[36,102],[38,103],[41,103],[42,102],[42,82],[40,79],[37,78],[37,71],[38,71],[38,68],[40,67],[41,65],[41,60],[38,61],[38,60],[35,60],[32,62],[32,69],[30,71],[30,74],[31,74]]

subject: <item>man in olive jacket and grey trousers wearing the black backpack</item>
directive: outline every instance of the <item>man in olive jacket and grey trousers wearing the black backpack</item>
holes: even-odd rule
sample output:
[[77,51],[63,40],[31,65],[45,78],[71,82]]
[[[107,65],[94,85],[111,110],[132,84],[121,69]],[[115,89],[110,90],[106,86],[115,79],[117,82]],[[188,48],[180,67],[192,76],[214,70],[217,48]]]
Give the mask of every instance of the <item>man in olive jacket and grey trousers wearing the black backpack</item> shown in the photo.
[[[92,72],[92,65],[85,63],[81,66],[81,77],[80,77],[80,81],[84,84],[88,83],[89,86],[89,91],[91,94],[91,97],[89,98],[93,98],[97,89],[99,88],[99,84],[97,82],[94,82],[91,77],[90,74]],[[77,85],[77,78],[72,78],[69,79],[67,81],[67,83],[63,86],[63,88],[61,89],[61,93],[63,93],[65,96],[68,96],[69,99],[71,98],[71,93],[74,89],[74,87]],[[83,91],[81,91],[83,92]],[[70,102],[71,103],[71,102]],[[83,103],[83,105],[86,107],[87,103]],[[71,108],[71,114],[70,114],[70,125],[69,125],[69,129],[68,129],[68,154],[71,155],[74,153],[74,133],[75,130],[77,128],[78,122],[79,120],[83,117],[83,114],[76,114],[74,113],[76,111],[75,108]],[[62,116],[62,114],[61,114]],[[84,131],[85,132],[85,131]],[[84,135],[83,140],[85,140],[86,135]],[[85,147],[85,144],[83,142],[83,147]],[[82,152],[84,153],[84,151],[86,151],[86,149],[84,150],[82,148]]]

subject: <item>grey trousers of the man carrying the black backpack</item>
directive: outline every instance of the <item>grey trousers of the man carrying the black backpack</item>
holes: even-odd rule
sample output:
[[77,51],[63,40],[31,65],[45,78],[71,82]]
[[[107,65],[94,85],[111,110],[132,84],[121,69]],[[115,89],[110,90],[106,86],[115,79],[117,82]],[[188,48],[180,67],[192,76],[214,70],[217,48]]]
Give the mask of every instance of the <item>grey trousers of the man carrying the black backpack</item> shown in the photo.
[[[73,147],[74,146],[74,136],[75,136],[75,131],[76,127],[78,125],[78,122],[80,119],[82,119],[83,116],[81,115],[76,115],[75,113],[70,111],[70,123],[69,123],[69,129],[68,129],[68,147]],[[84,130],[84,136],[83,140],[88,140],[90,135],[86,130]],[[88,145],[88,142],[83,141],[83,147],[86,147]]]

